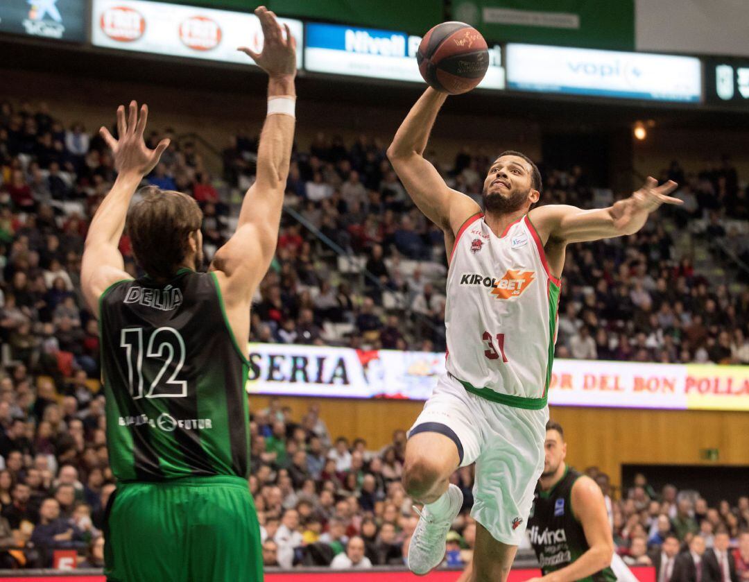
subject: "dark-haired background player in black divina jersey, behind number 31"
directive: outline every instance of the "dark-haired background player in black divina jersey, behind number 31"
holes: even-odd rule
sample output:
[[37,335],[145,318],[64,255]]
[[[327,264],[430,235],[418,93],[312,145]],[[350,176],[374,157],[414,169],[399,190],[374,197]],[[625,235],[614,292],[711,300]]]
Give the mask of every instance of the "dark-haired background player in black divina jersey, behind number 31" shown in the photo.
[[614,582],[613,539],[601,489],[565,463],[557,422],[546,425],[544,472],[528,518],[530,543],[545,582]]

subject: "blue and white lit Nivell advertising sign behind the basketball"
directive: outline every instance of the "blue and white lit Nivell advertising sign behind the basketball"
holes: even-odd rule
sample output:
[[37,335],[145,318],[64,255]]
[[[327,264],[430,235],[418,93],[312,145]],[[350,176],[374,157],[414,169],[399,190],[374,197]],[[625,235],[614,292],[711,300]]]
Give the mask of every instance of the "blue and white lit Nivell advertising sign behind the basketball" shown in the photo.
[[[404,32],[309,22],[304,67],[318,73],[424,82],[416,64],[422,37]],[[489,70],[479,88],[503,89],[499,45],[489,47]]]

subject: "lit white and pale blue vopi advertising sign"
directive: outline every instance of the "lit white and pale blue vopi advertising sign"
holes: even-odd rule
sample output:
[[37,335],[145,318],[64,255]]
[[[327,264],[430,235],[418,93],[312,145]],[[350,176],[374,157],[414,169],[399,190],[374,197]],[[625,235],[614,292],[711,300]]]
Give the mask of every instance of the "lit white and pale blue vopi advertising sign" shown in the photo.
[[521,91],[656,101],[700,101],[700,60],[513,44],[506,47],[507,86]]

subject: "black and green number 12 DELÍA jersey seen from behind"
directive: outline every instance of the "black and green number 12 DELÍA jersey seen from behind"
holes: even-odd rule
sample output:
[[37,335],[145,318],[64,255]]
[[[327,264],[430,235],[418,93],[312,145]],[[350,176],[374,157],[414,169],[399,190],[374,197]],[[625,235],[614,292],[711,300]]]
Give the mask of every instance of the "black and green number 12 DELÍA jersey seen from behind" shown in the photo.
[[249,476],[249,363],[215,273],[117,282],[100,298],[99,324],[115,477]]

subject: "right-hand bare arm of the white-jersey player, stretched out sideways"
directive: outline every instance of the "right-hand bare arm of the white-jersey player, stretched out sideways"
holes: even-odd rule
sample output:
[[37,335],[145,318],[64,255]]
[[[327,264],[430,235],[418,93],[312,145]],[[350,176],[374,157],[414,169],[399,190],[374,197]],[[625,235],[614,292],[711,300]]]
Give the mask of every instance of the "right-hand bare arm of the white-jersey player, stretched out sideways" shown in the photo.
[[581,210],[565,204],[550,204],[534,208],[528,216],[544,243],[550,239],[560,243],[581,243],[621,237],[643,228],[649,213],[661,204],[682,204],[682,200],[669,195],[677,186],[674,181],[658,186],[655,178],[648,178],[640,190],[608,208]]

